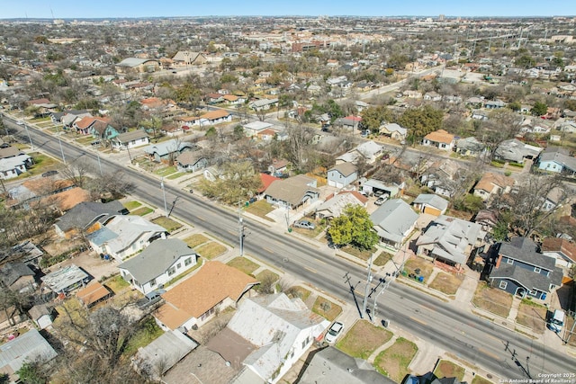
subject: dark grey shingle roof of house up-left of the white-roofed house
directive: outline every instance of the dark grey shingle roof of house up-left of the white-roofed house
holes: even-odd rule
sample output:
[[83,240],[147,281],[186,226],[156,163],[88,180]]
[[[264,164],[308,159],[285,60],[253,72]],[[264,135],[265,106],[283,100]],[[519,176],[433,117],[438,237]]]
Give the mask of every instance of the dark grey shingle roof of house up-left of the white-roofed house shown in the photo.
[[118,215],[124,210],[120,201],[106,203],[85,201],[68,210],[64,216],[58,219],[56,225],[66,232],[72,228],[86,228],[100,217]]

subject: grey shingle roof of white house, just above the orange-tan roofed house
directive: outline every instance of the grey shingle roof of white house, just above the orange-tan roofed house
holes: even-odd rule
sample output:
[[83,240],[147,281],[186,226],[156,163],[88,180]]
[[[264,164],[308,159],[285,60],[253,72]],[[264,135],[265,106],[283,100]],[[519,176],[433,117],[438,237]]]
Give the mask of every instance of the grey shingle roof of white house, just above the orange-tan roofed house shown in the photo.
[[178,238],[158,239],[144,250],[118,268],[130,272],[140,284],[144,284],[162,273],[174,264],[180,257],[196,255],[192,248]]

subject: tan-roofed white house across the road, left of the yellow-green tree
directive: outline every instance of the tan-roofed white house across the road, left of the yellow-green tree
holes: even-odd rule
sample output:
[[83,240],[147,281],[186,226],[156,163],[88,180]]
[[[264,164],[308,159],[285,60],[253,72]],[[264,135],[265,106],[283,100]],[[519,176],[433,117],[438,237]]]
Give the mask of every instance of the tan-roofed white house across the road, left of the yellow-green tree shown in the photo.
[[304,174],[276,180],[266,189],[266,201],[291,210],[305,207],[320,197],[320,190],[316,185],[316,179]]

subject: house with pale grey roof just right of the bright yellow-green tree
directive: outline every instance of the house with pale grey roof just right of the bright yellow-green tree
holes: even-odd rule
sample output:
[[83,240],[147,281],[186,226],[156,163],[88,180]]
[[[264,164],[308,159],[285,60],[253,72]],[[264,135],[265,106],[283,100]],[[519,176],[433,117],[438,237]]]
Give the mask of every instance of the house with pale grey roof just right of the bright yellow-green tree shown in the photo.
[[385,201],[370,215],[380,241],[394,249],[400,249],[407,240],[418,218],[419,214],[401,199]]

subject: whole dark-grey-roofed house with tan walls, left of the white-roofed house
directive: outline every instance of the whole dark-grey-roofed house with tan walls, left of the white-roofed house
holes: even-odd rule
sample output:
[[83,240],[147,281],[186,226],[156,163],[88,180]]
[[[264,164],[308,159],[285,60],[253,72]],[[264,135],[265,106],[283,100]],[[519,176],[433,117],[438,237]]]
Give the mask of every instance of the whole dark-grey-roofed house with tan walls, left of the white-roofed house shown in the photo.
[[106,203],[85,201],[58,218],[54,228],[59,237],[72,238],[78,235],[78,232],[94,232],[102,227],[103,220],[126,213],[128,210],[120,201]]

